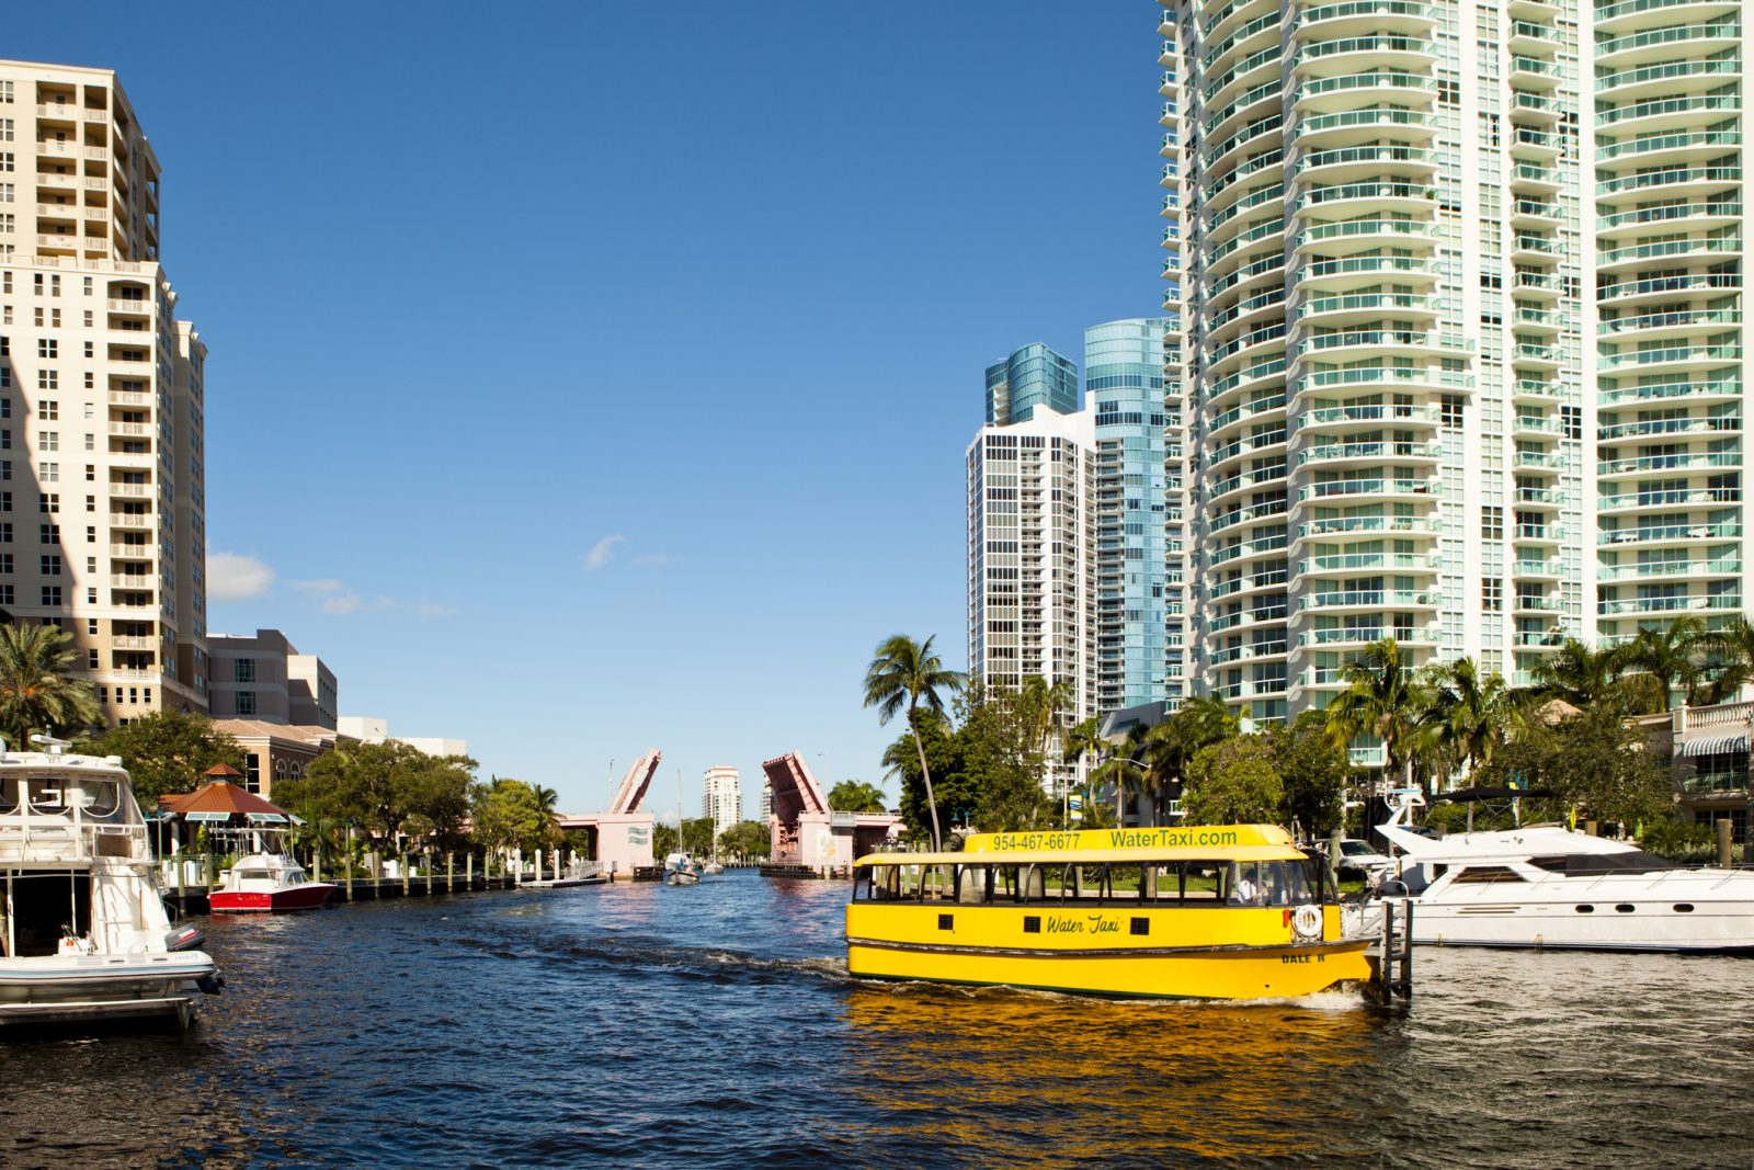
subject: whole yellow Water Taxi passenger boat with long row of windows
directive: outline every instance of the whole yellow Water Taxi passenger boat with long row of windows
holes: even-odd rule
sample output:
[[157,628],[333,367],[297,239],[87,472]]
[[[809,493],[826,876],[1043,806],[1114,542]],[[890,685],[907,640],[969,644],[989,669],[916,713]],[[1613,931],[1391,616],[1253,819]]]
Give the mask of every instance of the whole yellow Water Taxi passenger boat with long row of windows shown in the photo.
[[847,970],[1116,996],[1377,989],[1319,858],[1275,824],[977,833],[859,858]]

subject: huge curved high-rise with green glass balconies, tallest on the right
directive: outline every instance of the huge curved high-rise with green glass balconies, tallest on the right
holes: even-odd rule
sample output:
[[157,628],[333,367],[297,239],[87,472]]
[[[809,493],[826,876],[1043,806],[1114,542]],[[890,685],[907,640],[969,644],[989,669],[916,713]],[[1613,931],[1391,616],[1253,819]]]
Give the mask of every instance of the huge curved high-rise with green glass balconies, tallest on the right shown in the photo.
[[1323,707],[1382,637],[1522,682],[1742,612],[1738,21],[1165,14],[1210,693]]

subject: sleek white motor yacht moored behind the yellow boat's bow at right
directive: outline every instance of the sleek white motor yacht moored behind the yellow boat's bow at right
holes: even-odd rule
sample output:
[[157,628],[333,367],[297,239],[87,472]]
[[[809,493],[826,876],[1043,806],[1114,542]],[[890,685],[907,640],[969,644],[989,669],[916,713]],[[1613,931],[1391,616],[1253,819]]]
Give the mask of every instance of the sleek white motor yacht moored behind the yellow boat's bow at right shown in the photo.
[[1754,870],[1682,868],[1558,824],[1424,837],[1414,803],[1380,826],[1400,854],[1382,900],[1415,907],[1414,942],[1754,951]]

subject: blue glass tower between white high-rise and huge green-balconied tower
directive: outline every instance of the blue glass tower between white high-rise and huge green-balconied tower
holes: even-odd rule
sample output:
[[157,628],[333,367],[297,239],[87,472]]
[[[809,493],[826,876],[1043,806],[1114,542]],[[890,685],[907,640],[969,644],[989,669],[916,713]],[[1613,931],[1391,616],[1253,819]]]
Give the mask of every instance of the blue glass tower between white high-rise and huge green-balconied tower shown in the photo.
[[[1091,710],[1098,714],[1166,696],[1165,325],[1135,319],[1084,330],[1084,402],[1096,437]],[[1180,647],[1175,654],[1179,661]]]

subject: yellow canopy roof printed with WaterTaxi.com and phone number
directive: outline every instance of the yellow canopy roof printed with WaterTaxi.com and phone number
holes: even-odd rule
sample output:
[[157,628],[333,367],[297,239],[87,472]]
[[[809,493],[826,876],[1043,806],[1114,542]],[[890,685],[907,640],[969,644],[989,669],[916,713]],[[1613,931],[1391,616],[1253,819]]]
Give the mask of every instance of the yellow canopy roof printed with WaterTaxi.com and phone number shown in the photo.
[[1277,824],[1102,828],[973,833],[961,853],[875,853],[858,865],[1030,865],[1126,861],[1298,861],[1307,854]]

